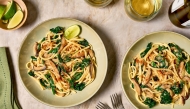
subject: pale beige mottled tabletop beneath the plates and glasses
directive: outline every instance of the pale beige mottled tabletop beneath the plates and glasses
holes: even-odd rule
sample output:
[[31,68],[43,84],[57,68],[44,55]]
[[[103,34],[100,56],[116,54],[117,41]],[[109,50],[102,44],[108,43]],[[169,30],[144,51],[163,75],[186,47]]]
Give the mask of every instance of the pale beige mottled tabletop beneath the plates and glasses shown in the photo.
[[163,0],[159,14],[149,22],[136,22],[125,13],[124,0],[114,0],[105,8],[89,6],[84,0],[23,0],[28,8],[28,18],[18,30],[0,29],[0,47],[7,47],[17,84],[18,100],[23,109],[56,109],[38,102],[24,88],[19,78],[18,50],[27,34],[39,23],[51,18],[70,17],[90,25],[103,40],[108,54],[108,71],[100,90],[88,101],[68,109],[94,109],[98,101],[111,106],[110,95],[122,95],[126,109],[134,109],[121,88],[120,68],[127,49],[140,37],[155,31],[174,31],[190,37],[189,29],[175,27],[168,18],[168,8],[173,0]]

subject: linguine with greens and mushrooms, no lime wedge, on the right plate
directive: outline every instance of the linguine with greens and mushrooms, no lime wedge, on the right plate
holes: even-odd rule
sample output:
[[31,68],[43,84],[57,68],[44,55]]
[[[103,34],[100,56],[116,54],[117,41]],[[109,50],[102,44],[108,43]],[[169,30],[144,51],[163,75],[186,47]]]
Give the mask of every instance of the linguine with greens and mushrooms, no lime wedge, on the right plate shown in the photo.
[[190,95],[190,55],[175,43],[152,43],[129,63],[128,77],[139,102],[185,104]]

